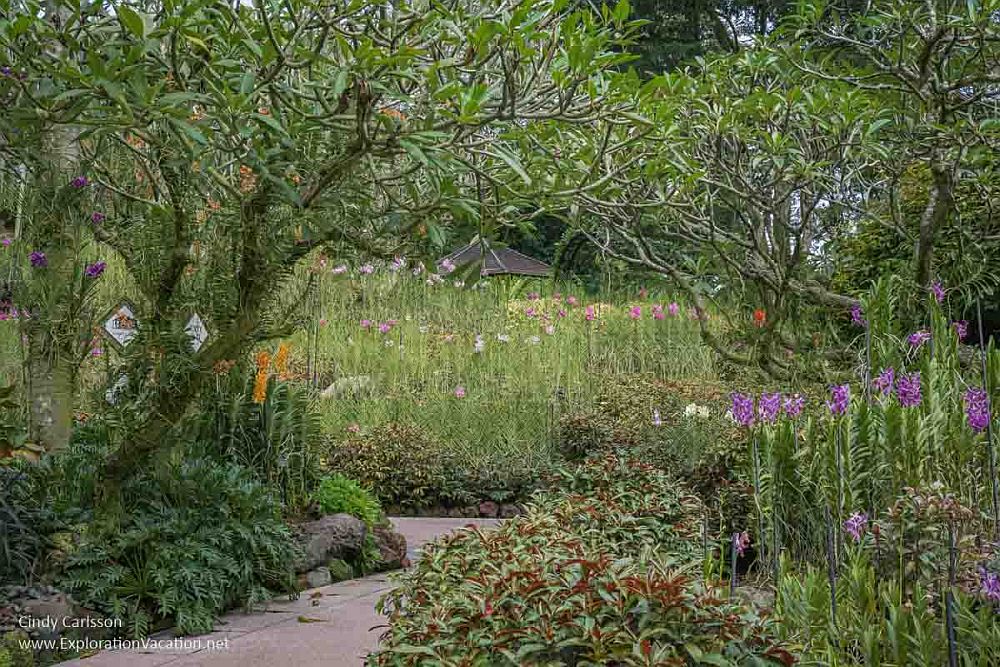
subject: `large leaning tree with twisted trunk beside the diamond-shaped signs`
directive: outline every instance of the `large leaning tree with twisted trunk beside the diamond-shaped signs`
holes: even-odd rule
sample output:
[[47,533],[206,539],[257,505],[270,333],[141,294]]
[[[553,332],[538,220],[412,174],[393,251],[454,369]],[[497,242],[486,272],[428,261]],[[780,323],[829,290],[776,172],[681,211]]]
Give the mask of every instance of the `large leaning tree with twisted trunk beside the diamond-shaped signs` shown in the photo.
[[[292,330],[314,253],[476,218],[476,175],[528,189],[510,137],[614,113],[631,30],[627,8],[557,0],[53,5],[0,3],[0,155],[34,178],[39,138],[81,128],[88,233],[141,294],[111,479],[169,447],[213,369]],[[197,352],[194,312],[214,330]]]

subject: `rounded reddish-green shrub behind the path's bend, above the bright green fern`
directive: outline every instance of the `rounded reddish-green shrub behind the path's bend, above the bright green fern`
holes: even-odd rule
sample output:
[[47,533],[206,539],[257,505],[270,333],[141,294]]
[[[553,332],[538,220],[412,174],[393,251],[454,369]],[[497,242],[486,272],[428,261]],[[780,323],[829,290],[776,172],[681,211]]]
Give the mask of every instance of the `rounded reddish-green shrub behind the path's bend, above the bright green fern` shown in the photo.
[[372,489],[385,505],[417,508],[466,499],[454,457],[408,424],[352,434],[333,448],[327,465]]

